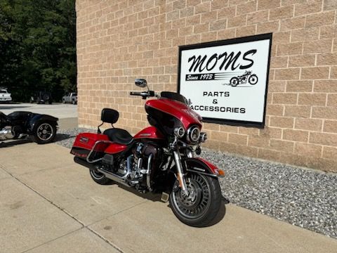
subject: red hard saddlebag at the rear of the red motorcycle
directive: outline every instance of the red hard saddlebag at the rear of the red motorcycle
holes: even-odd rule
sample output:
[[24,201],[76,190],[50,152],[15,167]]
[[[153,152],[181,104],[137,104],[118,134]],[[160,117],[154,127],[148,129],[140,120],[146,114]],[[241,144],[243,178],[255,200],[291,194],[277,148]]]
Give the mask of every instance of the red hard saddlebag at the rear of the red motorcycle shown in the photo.
[[90,154],[90,160],[100,159],[104,150],[111,143],[105,134],[81,133],[78,134],[70,153],[76,157],[86,159]]

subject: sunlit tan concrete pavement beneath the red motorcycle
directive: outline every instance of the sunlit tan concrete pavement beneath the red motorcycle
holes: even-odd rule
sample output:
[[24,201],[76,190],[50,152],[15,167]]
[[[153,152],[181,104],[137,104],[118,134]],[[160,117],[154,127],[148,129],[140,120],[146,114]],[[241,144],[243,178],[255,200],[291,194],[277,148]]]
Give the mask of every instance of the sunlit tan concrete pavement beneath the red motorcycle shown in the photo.
[[158,195],[94,183],[69,152],[0,148],[1,253],[336,252],[337,240],[230,204],[213,226],[185,226]]

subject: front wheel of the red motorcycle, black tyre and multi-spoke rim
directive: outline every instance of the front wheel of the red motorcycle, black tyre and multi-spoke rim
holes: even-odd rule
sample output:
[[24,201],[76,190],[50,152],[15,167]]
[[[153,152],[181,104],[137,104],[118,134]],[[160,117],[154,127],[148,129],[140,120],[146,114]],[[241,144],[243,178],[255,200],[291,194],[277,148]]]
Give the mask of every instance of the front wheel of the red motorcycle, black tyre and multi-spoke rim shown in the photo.
[[189,195],[183,194],[176,181],[170,195],[171,209],[180,221],[189,226],[208,226],[220,210],[218,179],[201,174],[188,174],[185,179]]

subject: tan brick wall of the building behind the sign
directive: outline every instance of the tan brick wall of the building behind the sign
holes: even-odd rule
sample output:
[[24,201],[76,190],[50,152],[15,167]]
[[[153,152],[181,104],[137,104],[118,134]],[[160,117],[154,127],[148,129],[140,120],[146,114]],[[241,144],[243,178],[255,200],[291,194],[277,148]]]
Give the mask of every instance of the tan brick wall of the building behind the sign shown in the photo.
[[79,124],[147,126],[136,77],[176,91],[178,46],[273,33],[265,129],[204,124],[206,146],[337,171],[336,0],[77,0]]

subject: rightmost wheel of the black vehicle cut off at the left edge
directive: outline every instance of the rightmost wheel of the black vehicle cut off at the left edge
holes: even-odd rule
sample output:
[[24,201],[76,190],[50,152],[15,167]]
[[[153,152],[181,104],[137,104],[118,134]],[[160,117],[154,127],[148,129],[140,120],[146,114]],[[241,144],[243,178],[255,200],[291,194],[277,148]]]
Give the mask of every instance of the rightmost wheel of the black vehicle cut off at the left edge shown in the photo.
[[56,137],[56,124],[53,122],[39,122],[34,126],[33,141],[39,144],[51,143]]

